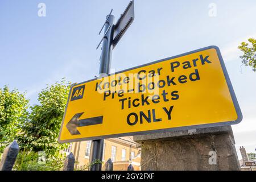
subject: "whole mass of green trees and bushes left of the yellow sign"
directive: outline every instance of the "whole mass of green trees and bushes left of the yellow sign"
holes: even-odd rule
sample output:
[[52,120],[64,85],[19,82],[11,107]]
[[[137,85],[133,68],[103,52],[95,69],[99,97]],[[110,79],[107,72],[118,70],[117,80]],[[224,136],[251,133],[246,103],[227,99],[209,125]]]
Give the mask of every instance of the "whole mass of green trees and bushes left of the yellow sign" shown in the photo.
[[[62,80],[47,85],[38,96],[38,105],[28,109],[24,94],[5,86],[0,89],[0,155],[7,144],[18,139],[20,152],[14,170],[56,171],[63,170],[64,154],[60,151],[67,144],[57,138],[67,104],[70,83]],[[46,153],[46,163],[40,163],[39,152]]]

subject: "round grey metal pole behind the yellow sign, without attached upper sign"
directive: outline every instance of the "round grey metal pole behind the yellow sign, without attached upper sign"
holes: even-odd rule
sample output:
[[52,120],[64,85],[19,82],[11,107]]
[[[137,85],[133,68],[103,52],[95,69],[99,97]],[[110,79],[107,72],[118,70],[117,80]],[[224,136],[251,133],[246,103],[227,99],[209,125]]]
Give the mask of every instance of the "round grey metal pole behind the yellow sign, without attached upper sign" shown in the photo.
[[[109,16],[109,15],[108,15]],[[102,52],[100,58],[100,78],[110,73],[112,50],[113,50],[113,35],[114,35],[114,20],[115,16],[106,17],[105,36],[102,44]],[[90,148],[90,164],[95,160],[102,161],[104,148],[104,139],[93,140]],[[90,171],[101,171],[101,164],[95,164],[90,167]]]

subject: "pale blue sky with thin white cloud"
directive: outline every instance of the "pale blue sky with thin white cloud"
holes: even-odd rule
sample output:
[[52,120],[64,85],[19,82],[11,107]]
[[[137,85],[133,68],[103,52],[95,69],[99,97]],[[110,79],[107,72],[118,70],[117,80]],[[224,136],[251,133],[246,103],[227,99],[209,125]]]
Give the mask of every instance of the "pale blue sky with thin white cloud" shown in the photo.
[[[39,3],[46,16],[39,16]],[[1,0],[0,88],[27,92],[37,104],[40,90],[65,77],[83,82],[98,75],[106,15],[115,20],[129,0]],[[112,72],[218,46],[225,61],[243,121],[232,126],[237,149],[256,148],[256,73],[241,67],[239,44],[256,38],[255,0],[135,0],[135,20],[113,51]],[[238,158],[241,159],[237,150]]]

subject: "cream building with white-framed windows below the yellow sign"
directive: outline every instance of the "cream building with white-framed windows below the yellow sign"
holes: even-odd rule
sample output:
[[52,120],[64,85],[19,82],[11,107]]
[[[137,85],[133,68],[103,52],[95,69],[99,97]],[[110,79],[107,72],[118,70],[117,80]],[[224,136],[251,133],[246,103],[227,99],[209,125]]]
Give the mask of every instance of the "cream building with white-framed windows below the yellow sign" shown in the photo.
[[[63,152],[72,152],[79,162],[75,168],[83,168],[89,164],[90,147],[92,141],[71,143]],[[127,167],[132,164],[134,171],[141,170],[141,149],[137,148],[133,137],[119,137],[104,140],[102,169],[105,163],[112,159],[114,171],[127,171]]]

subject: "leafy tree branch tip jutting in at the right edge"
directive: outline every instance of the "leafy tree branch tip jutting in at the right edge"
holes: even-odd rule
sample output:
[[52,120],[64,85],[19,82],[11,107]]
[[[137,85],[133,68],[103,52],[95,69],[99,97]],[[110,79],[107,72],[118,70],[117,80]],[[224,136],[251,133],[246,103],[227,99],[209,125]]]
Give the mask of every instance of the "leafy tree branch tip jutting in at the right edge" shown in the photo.
[[246,67],[252,67],[256,72],[256,39],[249,39],[249,43],[242,42],[238,48],[243,52],[243,56],[240,56],[242,63]]

